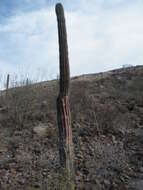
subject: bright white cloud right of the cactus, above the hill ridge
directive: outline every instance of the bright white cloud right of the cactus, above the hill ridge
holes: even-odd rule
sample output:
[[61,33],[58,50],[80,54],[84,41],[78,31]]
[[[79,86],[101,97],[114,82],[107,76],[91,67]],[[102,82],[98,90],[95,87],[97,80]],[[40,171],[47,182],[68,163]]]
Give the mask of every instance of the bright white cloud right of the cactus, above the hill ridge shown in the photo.
[[[142,7],[103,9],[69,15],[68,33],[75,74],[100,72],[123,64],[142,64]],[[139,58],[140,57],[140,58]]]

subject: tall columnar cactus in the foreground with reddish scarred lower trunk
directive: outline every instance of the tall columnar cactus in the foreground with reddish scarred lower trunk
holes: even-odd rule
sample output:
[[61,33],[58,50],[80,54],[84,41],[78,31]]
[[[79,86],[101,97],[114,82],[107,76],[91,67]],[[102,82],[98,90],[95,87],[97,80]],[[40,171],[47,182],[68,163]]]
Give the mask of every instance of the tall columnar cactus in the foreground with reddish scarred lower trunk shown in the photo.
[[57,98],[57,118],[59,129],[59,153],[60,164],[66,169],[70,177],[73,177],[73,148],[72,130],[69,106],[69,83],[70,69],[68,59],[67,33],[63,6],[56,5],[59,35],[59,57],[60,57],[60,92]]

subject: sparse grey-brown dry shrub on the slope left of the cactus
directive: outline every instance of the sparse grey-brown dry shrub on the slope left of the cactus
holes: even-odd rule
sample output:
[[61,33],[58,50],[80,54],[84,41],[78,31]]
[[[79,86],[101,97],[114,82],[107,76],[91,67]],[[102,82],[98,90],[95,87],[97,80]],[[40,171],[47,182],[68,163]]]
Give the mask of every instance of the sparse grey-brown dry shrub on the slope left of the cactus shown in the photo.
[[9,118],[17,127],[23,127],[29,115],[35,110],[37,93],[31,85],[16,87],[5,97]]

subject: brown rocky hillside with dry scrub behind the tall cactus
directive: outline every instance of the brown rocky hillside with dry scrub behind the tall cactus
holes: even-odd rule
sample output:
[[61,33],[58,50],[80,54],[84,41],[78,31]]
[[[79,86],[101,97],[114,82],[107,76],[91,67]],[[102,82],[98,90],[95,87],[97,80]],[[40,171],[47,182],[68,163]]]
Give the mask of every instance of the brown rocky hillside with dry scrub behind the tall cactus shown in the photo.
[[[0,96],[0,189],[58,189],[58,81]],[[143,66],[71,80],[78,190],[143,189]],[[63,188],[64,189],[64,188]]]

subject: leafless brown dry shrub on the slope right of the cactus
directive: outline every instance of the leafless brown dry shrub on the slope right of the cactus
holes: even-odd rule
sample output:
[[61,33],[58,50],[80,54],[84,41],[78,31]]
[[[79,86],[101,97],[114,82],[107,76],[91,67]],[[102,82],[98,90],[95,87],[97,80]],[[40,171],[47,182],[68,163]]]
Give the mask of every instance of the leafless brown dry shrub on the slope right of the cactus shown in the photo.
[[[72,110],[72,119],[81,123],[84,131],[87,128],[88,135],[115,133],[114,121],[118,112],[118,108],[112,102],[103,104],[96,95],[89,95],[88,92],[85,92]],[[84,118],[83,120],[81,120],[81,116]]]

